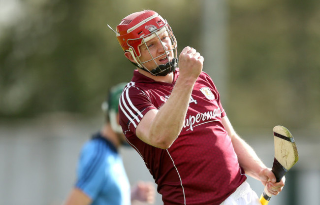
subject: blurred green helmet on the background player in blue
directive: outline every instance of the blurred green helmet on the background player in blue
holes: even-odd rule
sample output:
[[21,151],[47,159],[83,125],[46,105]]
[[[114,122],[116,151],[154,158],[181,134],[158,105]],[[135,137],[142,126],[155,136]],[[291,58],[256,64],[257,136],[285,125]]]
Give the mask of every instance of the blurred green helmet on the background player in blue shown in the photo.
[[117,114],[119,112],[119,99],[126,85],[127,83],[119,83],[112,86],[109,90],[108,98],[101,105],[106,121],[110,122],[112,129],[117,133],[122,133],[122,129],[117,122]]

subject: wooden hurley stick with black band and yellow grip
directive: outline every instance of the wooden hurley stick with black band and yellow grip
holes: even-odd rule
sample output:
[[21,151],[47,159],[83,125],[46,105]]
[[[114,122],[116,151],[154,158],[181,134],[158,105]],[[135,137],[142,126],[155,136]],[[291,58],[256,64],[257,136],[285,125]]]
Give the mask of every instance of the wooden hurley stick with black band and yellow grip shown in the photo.
[[[276,176],[277,182],[279,182],[298,161],[299,155],[295,141],[287,128],[280,125],[274,127],[273,139],[274,161],[272,172]],[[267,205],[270,199],[271,194],[268,192],[267,186],[265,186],[260,196],[260,202],[262,205]]]

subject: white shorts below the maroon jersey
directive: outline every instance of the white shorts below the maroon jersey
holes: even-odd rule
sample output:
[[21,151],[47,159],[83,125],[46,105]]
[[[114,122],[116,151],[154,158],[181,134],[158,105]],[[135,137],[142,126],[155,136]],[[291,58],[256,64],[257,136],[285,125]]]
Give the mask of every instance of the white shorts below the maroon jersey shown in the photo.
[[261,203],[256,192],[245,181],[220,205],[261,205]]

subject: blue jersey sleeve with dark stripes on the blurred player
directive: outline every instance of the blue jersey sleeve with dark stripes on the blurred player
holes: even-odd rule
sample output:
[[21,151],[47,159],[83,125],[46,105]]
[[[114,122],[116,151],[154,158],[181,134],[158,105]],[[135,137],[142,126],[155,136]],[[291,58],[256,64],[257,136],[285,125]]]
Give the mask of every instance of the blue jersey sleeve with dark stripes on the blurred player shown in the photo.
[[83,146],[78,161],[77,181],[75,187],[92,200],[101,191],[104,180],[105,150],[102,144],[87,143]]

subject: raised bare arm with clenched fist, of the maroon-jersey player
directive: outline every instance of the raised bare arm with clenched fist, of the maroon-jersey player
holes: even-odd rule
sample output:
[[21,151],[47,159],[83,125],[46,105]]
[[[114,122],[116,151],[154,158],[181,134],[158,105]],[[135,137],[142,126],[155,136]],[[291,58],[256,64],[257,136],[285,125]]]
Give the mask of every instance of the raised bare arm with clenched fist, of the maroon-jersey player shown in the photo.
[[179,56],[180,75],[167,102],[159,109],[149,110],[136,129],[144,142],[167,149],[181,132],[193,85],[202,71],[203,57],[186,47]]

